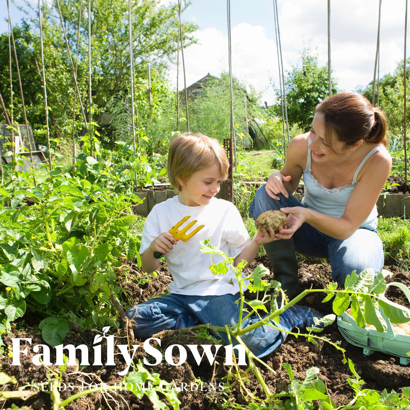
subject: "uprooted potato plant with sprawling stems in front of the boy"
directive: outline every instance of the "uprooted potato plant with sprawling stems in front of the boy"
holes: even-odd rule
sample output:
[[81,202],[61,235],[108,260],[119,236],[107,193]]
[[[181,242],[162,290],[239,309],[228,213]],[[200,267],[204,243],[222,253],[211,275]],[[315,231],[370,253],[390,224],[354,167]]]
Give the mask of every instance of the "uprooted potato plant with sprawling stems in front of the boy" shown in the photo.
[[[238,323],[232,327],[225,326],[224,329],[209,324],[199,325],[197,327],[206,327],[215,333],[220,331],[226,332],[230,340],[231,338],[235,338],[241,345],[244,346],[248,357],[249,366],[245,371],[240,369],[237,365],[234,366],[234,370],[230,370],[229,372],[229,377],[235,379],[239,383],[244,397],[247,397],[248,400],[254,400],[251,404],[254,404],[255,407],[250,408],[277,408],[279,410],[283,408],[283,404],[285,405],[284,408],[316,408],[314,407],[314,401],[318,401],[320,403],[319,408],[335,408],[335,404],[327,394],[325,384],[318,378],[319,369],[315,367],[310,368],[308,372],[306,372],[305,380],[300,382],[294,380],[294,373],[290,365],[283,363],[283,367],[288,372],[291,380],[288,391],[280,393],[270,392],[258,366],[256,365],[256,362],[273,373],[275,373],[275,371],[267,363],[255,357],[241,340],[242,335],[256,329],[258,326],[269,323],[274,318],[278,318],[279,314],[288,309],[289,306],[294,305],[302,300],[306,295],[311,293],[324,293],[324,299],[322,302],[333,299],[333,312],[335,315],[326,315],[320,320],[315,319],[315,325],[306,328],[307,333],[305,334],[299,332],[288,333],[293,334],[296,337],[304,336],[312,343],[317,343],[317,341],[321,339],[324,342],[330,343],[337,350],[342,352],[343,362],[348,362],[349,368],[354,375],[354,378],[348,380],[348,382],[355,392],[355,398],[349,405],[343,407],[343,409],[364,408],[364,403],[374,405],[374,407],[370,406],[366,408],[381,408],[378,407],[378,405],[385,405],[385,403],[392,404],[392,402],[398,400],[399,397],[400,399],[403,399],[401,403],[408,405],[409,389],[405,389],[402,396],[397,395],[395,392],[392,392],[390,395],[384,392],[383,396],[376,391],[362,391],[360,388],[362,382],[355,371],[354,364],[351,360],[348,360],[345,357],[345,351],[339,346],[339,342],[333,342],[329,338],[317,334],[321,332],[324,326],[330,325],[335,320],[336,315],[341,315],[344,313],[349,306],[351,306],[350,314],[354,317],[358,326],[366,327],[371,325],[374,326],[379,332],[386,330],[386,322],[380,313],[380,309],[383,310],[385,317],[392,322],[407,322],[410,319],[409,311],[404,306],[400,306],[383,297],[384,292],[387,289],[387,285],[382,272],[379,272],[375,276],[373,270],[364,270],[360,274],[356,274],[354,271],[351,275],[347,276],[344,289],[339,289],[337,283],[331,282],[327,286],[327,289],[304,290],[294,299],[290,301],[286,300],[286,303],[284,303],[284,299],[286,297],[280,288],[280,284],[278,282],[269,283],[267,280],[263,279],[264,274],[267,272],[267,269],[264,268],[263,265],[259,265],[250,275],[243,278],[242,269],[245,265],[244,261],[239,263],[237,267],[234,267],[233,258],[227,257],[226,254],[215,248],[209,240],[201,243],[201,251],[204,253],[224,256],[224,260],[218,264],[212,265],[211,270],[213,270],[215,274],[224,274],[228,272],[228,266],[231,265],[239,282],[240,299],[238,303],[240,306],[240,313]],[[249,282],[248,290],[251,293],[256,293],[256,299],[245,299],[245,281]],[[280,304],[278,303],[279,295],[281,296],[279,298]],[[242,315],[244,318],[247,318],[253,314],[259,316],[261,316],[261,314],[268,315],[264,317],[263,321],[261,320],[247,327],[243,327],[241,320]],[[270,323],[270,325],[275,327],[272,323]],[[254,393],[251,392],[246,386],[245,380],[249,377],[249,373],[253,373],[255,375],[263,389],[265,399],[262,402],[258,403],[258,399]],[[356,405],[356,402],[363,404]],[[397,406],[397,408],[401,407]]]

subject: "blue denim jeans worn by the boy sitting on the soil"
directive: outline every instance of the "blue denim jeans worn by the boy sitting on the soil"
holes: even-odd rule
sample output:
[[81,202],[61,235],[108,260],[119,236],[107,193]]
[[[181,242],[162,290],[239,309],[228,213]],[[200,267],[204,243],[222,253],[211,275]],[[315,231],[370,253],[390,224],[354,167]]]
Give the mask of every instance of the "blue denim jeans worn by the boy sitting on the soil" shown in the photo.
[[[147,339],[163,330],[182,329],[197,324],[212,324],[224,327],[234,326],[239,319],[239,299],[236,295],[189,296],[168,294],[150,299],[132,306],[126,315],[133,325],[134,335],[138,339]],[[252,332],[241,336],[242,341],[257,356],[263,357],[272,353],[286,338],[285,331],[295,326],[300,328],[314,324],[313,317],[321,315],[305,306],[291,306],[279,317],[279,323],[272,324],[283,329],[279,331],[269,324],[264,324]],[[259,321],[253,316],[243,322],[242,328]],[[229,343],[227,334],[220,332],[219,338]],[[235,344],[235,341],[232,341]]]

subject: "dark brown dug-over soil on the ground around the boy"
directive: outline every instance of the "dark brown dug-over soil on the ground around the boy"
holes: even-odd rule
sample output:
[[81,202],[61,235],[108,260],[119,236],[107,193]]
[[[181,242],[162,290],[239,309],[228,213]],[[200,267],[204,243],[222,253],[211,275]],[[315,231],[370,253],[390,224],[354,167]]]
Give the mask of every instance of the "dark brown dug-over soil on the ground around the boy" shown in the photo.
[[[269,261],[265,256],[258,256],[252,263],[250,269],[253,270],[259,263],[263,263],[268,268],[270,267]],[[330,265],[323,260],[300,260],[299,265],[302,290],[308,288],[324,289],[327,284],[332,281]],[[166,265],[162,262],[158,270],[158,275],[151,276],[150,281],[142,281],[141,279],[146,278],[147,275],[135,267],[130,268],[128,280],[122,283],[125,290],[124,300],[122,302],[125,306],[128,307],[130,304],[145,301],[153,295],[161,294],[167,290],[167,286],[171,281],[171,275]],[[392,275],[387,278],[388,282],[398,281],[410,286],[407,272],[400,270],[400,268],[395,265],[386,265],[385,268],[392,272]],[[267,279],[272,278],[273,276]],[[322,303],[323,296],[318,295],[319,294],[316,294],[315,297],[311,296],[310,298],[306,297],[300,304],[312,306],[322,314],[332,313],[332,301]],[[393,286],[388,288],[386,296],[393,301],[408,306],[407,299],[398,288]],[[127,344],[126,330],[115,331],[112,328],[109,333],[114,334],[117,344]],[[75,326],[73,326],[64,341],[64,345],[70,343],[74,346],[87,344],[90,353],[89,362],[93,364],[94,357],[91,346],[93,345],[94,337],[98,334],[101,334],[101,330],[79,332],[78,329],[75,329]],[[399,359],[396,357],[378,352],[370,356],[364,356],[362,348],[349,344],[343,339],[336,322],[326,327],[322,335],[334,342],[340,341],[340,347],[345,350],[346,358],[352,359],[356,372],[364,381],[364,384],[361,386],[362,388],[376,389],[377,391],[387,389],[388,392],[394,389],[396,392],[401,392],[401,387],[410,385],[409,366],[401,365]],[[180,344],[182,346],[187,346],[188,344],[212,344],[212,340],[210,341],[206,337],[198,337],[190,329],[164,332],[161,335],[156,335],[156,337],[161,339],[162,352],[167,346],[172,344]],[[7,357],[8,348],[10,349],[12,345],[12,338],[32,339],[31,346],[22,341],[20,349],[23,350],[26,346],[28,349],[26,354],[21,355],[22,364],[20,366],[12,366],[11,358]],[[50,378],[56,378],[59,368],[53,365],[47,367],[45,365],[36,366],[32,364],[32,346],[35,344],[44,344],[38,331],[27,330],[25,332],[10,333],[3,337],[3,339],[6,343],[6,348],[5,354],[1,356],[0,372],[14,376],[16,383],[14,385],[4,385],[0,390],[17,391],[18,389],[23,389],[28,391],[30,388],[27,384],[35,382],[38,386],[44,382],[45,391],[34,391],[25,401],[21,399],[2,401],[0,398],[0,408],[10,409],[13,405],[16,405],[33,410],[50,410],[52,408],[52,402],[50,392],[47,391],[47,381]],[[139,342],[142,341],[134,341],[133,343],[138,345]],[[105,352],[104,348],[102,351],[103,353]],[[173,353],[175,353],[175,350],[173,350]],[[147,354],[142,348],[139,348],[135,355],[137,359],[141,360],[146,356]],[[152,360],[151,357],[150,359]],[[174,355],[173,360],[177,362],[178,357]],[[171,365],[166,361],[162,361],[157,366],[146,367],[149,368],[150,372],[158,373],[162,380],[166,380],[172,384],[175,383],[177,387],[188,386],[184,388],[182,392],[178,393],[178,398],[181,401],[180,408],[183,410],[217,409],[221,408],[223,400],[229,400],[232,405],[246,404],[238,384],[231,386],[229,389],[229,383],[226,378],[229,366],[224,366],[223,360],[223,357],[219,357],[218,353],[217,363],[215,362],[214,365],[211,366],[208,362],[205,363],[202,361],[201,365],[198,366],[192,356],[188,355],[187,360],[180,365]],[[53,362],[53,356],[51,361]],[[137,360],[135,360],[135,362],[136,361]],[[259,366],[271,392],[279,393],[288,387],[290,382],[289,375],[281,364],[289,363],[292,366],[295,379],[298,380],[304,380],[305,372],[310,367],[317,367],[320,371],[320,379],[326,384],[329,395],[337,406],[345,405],[353,398],[353,389],[347,382],[347,380],[352,377],[352,373],[348,365],[343,363],[341,352],[327,342],[319,341],[319,343],[315,345],[303,337],[295,338],[294,336],[288,336],[275,352],[264,358],[264,361],[275,371],[275,373],[273,373]],[[104,354],[103,363],[105,363]],[[119,376],[118,372],[124,370],[125,367],[125,362],[120,355],[115,356],[115,365],[89,365],[80,368],[80,370],[78,366],[68,366],[65,371],[61,372],[61,383],[63,384],[59,385],[60,399],[64,400],[72,396],[74,393],[80,391],[79,386],[83,386],[82,388],[84,389],[84,386],[88,386],[91,383],[96,383],[94,386],[101,386],[104,385],[104,383],[107,385],[117,383],[119,385],[123,377]],[[243,366],[241,371],[244,370],[245,367]],[[53,374],[52,371],[57,373]],[[202,385],[199,380],[203,382]],[[184,385],[183,383],[187,384]],[[194,388],[190,388],[190,383],[194,383]],[[260,385],[253,376],[250,375],[245,383],[250,391],[254,391],[256,396],[263,398]],[[67,387],[64,388],[65,386]],[[74,390],[70,391],[69,386],[75,386]],[[195,389],[195,386],[199,387]],[[37,390],[39,390],[39,388],[37,388]],[[168,405],[170,406],[169,403]],[[114,408],[145,410],[153,407],[147,396],[137,398],[129,391],[105,393],[103,389],[103,392],[100,391],[82,396],[72,401],[65,408],[66,410]]]

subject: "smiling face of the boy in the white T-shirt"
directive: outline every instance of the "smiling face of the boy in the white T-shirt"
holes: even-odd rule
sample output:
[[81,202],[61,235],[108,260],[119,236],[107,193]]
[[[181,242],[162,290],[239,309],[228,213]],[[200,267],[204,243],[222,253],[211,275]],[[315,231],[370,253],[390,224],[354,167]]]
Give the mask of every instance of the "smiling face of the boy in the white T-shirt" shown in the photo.
[[208,205],[219,192],[221,181],[222,175],[218,163],[194,172],[185,181],[178,179],[181,186],[178,194],[179,201],[188,207]]

